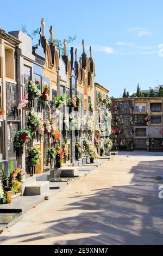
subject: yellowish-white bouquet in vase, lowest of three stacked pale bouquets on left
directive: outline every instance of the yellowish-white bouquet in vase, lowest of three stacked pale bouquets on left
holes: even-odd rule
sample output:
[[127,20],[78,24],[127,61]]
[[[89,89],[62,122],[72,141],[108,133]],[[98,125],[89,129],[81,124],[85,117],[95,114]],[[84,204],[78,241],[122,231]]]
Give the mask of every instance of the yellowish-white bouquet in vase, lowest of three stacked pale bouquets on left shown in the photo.
[[29,171],[30,176],[34,175],[35,166],[38,166],[40,163],[41,152],[36,147],[32,147],[28,150],[28,163],[29,163]]

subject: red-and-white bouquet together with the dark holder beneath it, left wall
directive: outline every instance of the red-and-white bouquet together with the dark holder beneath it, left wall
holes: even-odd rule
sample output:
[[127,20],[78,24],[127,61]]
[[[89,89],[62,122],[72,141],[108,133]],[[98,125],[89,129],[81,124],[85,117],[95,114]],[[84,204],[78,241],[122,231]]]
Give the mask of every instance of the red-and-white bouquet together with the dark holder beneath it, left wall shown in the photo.
[[23,146],[32,140],[29,130],[20,130],[16,133],[14,139],[14,147],[18,156],[23,155]]

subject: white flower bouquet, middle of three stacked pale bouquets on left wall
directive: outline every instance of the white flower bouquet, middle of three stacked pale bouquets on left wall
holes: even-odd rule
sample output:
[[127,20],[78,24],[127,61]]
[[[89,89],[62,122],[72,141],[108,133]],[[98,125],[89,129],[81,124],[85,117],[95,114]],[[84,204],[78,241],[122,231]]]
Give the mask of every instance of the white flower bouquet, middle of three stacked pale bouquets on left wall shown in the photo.
[[40,135],[43,135],[43,122],[38,117],[36,117],[34,111],[30,112],[28,115],[28,129],[31,132],[38,132]]

